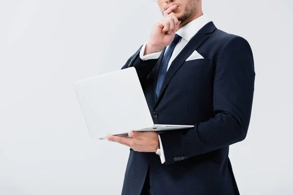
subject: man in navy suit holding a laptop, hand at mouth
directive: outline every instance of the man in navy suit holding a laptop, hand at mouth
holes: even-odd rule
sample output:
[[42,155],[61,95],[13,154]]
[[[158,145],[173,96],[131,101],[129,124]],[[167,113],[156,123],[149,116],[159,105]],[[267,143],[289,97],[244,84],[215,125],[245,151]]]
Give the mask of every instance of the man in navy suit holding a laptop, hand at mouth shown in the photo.
[[[155,124],[195,125],[108,140],[130,147],[123,195],[239,194],[229,145],[248,131],[254,91],[249,43],[218,30],[201,0],[159,0],[164,19],[122,67],[135,67]],[[131,98],[131,97],[130,97]]]

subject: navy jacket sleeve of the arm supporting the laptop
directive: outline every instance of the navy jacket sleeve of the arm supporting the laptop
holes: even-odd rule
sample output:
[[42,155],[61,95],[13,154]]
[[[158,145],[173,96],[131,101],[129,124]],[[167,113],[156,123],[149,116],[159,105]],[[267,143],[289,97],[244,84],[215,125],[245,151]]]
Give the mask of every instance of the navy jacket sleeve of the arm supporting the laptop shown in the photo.
[[248,131],[254,92],[254,62],[249,43],[229,39],[216,61],[213,117],[188,130],[160,134],[166,164],[188,159],[242,141]]

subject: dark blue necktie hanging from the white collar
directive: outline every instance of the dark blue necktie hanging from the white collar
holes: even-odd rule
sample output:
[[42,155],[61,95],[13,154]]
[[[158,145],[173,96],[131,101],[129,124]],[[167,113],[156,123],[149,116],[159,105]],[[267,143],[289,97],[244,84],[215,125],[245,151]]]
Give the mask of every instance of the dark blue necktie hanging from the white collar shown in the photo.
[[161,64],[161,69],[160,69],[160,73],[159,73],[158,82],[157,82],[157,89],[156,89],[157,97],[159,97],[160,90],[161,90],[164,78],[166,76],[166,73],[167,73],[168,63],[170,61],[170,58],[171,58],[172,53],[174,51],[174,48],[175,48],[175,46],[177,45],[177,43],[179,42],[180,39],[181,39],[181,37],[179,35],[175,34],[175,37],[174,37],[173,41],[169,45],[169,47],[168,47],[168,49],[167,49],[167,51],[166,51],[166,53],[164,55],[164,58],[163,58],[163,61],[162,61],[162,64]]

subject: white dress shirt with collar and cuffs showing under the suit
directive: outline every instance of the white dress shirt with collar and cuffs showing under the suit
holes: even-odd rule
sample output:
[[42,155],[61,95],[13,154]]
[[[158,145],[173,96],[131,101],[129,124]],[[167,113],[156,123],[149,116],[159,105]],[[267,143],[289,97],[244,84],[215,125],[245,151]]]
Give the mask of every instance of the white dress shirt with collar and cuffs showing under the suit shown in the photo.
[[[178,34],[180,37],[182,37],[182,39],[179,40],[179,42],[177,43],[177,45],[174,48],[174,51],[172,53],[172,56],[170,58],[170,61],[168,63],[168,67],[167,70],[169,69],[172,61],[177,57],[177,55],[181,52],[181,50],[187,45],[187,43],[189,42],[189,40],[202,28],[204,27],[207,23],[209,23],[209,18],[207,15],[202,15],[199,18],[190,21],[188,24],[184,25],[182,28],[180,28],[178,31],[176,31],[176,34]],[[167,46],[166,51],[168,49],[169,46]],[[158,59],[162,53],[162,51],[160,52],[156,52],[156,53],[152,53],[152,54],[148,54],[144,56],[145,53],[145,48],[146,48],[146,43],[142,46],[141,50],[140,50],[140,58],[141,59]],[[165,52],[166,52],[165,51]],[[159,135],[159,142],[160,142],[160,148],[161,148],[161,162],[162,164],[165,162],[165,155],[164,155],[164,150],[163,150],[163,144],[161,141],[161,137]]]

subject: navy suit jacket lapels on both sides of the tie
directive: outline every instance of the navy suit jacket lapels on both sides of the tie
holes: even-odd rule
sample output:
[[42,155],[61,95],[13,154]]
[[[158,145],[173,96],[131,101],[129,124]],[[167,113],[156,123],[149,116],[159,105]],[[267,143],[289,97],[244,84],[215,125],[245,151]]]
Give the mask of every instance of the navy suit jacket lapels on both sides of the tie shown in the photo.
[[[155,102],[156,102],[155,106],[157,105],[160,97],[162,96],[164,90],[166,89],[167,84],[169,83],[171,78],[175,75],[175,73],[178,71],[178,69],[181,67],[181,65],[185,62],[186,59],[188,59],[188,57],[194,52],[194,50],[197,50],[199,48],[199,46],[203,42],[205,42],[205,40],[207,40],[209,38],[210,33],[212,33],[215,29],[216,29],[216,27],[214,26],[212,21],[207,23],[203,28],[201,28],[198,31],[198,33],[192,39],[190,39],[188,44],[182,49],[182,51],[178,54],[178,56],[172,61],[170,67],[167,70],[166,76],[164,78],[159,97],[156,98],[156,93],[154,93],[155,94]],[[163,55],[164,55],[164,53],[163,53]],[[158,62],[157,62],[157,63],[159,63],[159,61],[160,61],[160,64],[155,65],[156,66],[155,67],[155,75],[154,75],[155,76],[155,78],[154,78],[155,83],[157,83],[160,65],[161,65],[161,62],[163,59],[162,55],[160,56],[160,59],[161,60],[158,60]],[[156,85],[157,84],[155,84],[155,91],[156,91]]]

